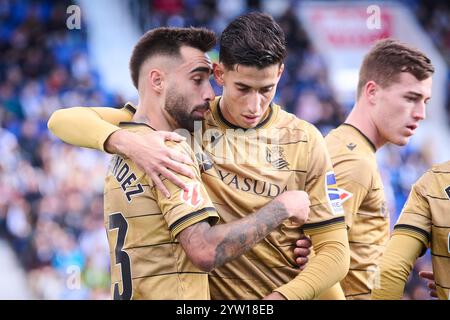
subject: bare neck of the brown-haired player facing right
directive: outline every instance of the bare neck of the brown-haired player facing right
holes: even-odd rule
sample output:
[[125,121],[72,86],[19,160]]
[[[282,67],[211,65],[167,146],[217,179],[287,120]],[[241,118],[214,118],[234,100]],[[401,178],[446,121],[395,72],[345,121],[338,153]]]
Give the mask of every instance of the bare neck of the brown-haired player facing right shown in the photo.
[[370,113],[367,111],[367,108],[359,105],[358,102],[348,115],[345,123],[348,123],[361,131],[361,133],[372,142],[376,150],[380,149],[387,142],[378,131],[378,127],[370,116]]

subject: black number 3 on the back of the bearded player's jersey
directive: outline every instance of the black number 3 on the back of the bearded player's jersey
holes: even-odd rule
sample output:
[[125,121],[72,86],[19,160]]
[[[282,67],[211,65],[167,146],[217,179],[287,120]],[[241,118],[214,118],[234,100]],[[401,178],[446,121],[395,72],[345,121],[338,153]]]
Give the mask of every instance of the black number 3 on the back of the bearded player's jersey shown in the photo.
[[109,216],[109,230],[118,229],[116,242],[116,264],[120,264],[122,270],[122,293],[119,292],[119,284],[114,284],[114,300],[130,300],[133,284],[131,282],[131,262],[128,253],[122,250],[127,235],[128,223],[122,213],[113,213]]

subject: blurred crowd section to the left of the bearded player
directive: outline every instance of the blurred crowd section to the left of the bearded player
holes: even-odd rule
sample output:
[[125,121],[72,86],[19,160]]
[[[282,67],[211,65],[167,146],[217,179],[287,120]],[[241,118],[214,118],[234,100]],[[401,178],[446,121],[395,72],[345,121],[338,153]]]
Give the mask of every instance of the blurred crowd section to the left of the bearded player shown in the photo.
[[[122,103],[92,70],[83,28],[66,28],[71,1],[0,3],[0,235],[37,298],[109,298],[103,227],[107,156],[46,130],[62,106]],[[80,286],[68,285],[79,268]],[[106,279],[106,281],[105,281]]]

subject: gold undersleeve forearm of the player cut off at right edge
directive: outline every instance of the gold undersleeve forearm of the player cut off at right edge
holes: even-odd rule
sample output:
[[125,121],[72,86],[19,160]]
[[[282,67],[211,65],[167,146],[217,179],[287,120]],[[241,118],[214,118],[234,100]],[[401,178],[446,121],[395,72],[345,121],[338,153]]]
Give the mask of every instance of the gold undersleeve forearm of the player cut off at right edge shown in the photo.
[[422,241],[406,234],[393,234],[379,265],[380,283],[372,290],[373,300],[400,300],[406,280],[423,252]]

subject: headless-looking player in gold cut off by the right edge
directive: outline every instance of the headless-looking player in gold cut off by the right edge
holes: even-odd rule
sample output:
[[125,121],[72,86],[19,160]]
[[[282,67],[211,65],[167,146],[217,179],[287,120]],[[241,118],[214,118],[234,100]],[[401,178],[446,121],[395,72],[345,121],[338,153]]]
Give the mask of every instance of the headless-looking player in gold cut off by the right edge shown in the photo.
[[417,258],[431,250],[431,289],[450,299],[450,161],[433,166],[412,187],[380,263],[372,299],[401,299]]

